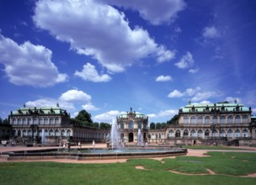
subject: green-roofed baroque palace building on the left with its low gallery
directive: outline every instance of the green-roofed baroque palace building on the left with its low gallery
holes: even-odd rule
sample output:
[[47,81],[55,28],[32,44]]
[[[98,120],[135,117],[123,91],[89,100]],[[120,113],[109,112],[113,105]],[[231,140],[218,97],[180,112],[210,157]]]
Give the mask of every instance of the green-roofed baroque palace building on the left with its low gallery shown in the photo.
[[[71,142],[104,141],[109,130],[93,129],[80,125],[70,124],[70,115],[67,110],[59,107],[47,108],[19,108],[9,115],[13,126],[13,135],[22,142],[31,141],[31,138],[40,138],[45,135],[46,144],[60,144]],[[30,139],[30,140],[29,140]]]

